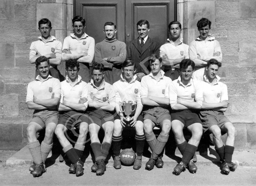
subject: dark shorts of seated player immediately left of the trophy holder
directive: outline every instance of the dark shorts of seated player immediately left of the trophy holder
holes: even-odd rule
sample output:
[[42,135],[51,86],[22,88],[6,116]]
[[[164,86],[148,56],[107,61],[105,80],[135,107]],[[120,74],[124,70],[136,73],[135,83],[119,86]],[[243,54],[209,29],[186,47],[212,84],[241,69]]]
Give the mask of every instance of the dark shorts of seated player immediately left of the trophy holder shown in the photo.
[[101,127],[102,124],[105,124],[108,121],[114,122],[113,113],[104,111],[101,109],[95,109],[95,110],[88,111],[88,115],[89,115],[89,125],[97,124]]

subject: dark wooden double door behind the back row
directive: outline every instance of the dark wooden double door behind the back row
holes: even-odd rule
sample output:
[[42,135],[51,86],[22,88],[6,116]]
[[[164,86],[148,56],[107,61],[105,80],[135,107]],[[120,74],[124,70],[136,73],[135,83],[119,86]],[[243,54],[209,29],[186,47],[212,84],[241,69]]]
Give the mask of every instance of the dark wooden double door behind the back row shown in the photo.
[[95,39],[95,44],[105,38],[104,24],[116,24],[116,38],[125,43],[138,37],[137,22],[150,23],[151,38],[164,44],[168,38],[168,24],[177,20],[177,0],[74,0],[74,16],[86,20],[85,32]]

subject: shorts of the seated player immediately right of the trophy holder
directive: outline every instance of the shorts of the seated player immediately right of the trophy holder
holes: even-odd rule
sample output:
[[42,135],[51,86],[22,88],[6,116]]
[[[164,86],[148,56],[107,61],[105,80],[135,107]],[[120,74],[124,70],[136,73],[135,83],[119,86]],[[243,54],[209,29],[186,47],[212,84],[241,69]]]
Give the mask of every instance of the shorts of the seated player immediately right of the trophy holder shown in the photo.
[[142,114],[143,114],[144,120],[145,119],[151,120],[152,122],[154,122],[155,126],[157,127],[160,127],[160,125],[164,120],[171,121],[169,110],[161,106],[148,108],[147,110],[143,111]]

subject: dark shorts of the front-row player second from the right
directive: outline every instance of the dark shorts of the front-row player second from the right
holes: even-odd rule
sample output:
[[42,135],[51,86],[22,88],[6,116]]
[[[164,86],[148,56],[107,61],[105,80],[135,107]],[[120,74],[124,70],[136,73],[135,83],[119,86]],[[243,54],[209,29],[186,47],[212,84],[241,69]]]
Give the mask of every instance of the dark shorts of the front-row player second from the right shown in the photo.
[[193,110],[186,109],[183,111],[174,111],[171,113],[171,121],[178,120],[181,123],[184,124],[184,128],[194,124],[194,123],[200,123],[202,124],[201,120],[199,119],[196,112],[193,112]]

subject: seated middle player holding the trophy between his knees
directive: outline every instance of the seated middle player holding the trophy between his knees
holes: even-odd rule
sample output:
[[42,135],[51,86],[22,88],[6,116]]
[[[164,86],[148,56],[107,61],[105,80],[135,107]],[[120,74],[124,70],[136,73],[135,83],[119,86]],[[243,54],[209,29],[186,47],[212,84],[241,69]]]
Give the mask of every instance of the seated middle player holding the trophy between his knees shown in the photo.
[[136,80],[137,76],[134,74],[135,71],[136,68],[134,62],[132,60],[125,61],[122,64],[121,80],[113,84],[115,91],[115,109],[118,114],[115,116],[112,137],[115,169],[121,168],[119,154],[122,143],[122,131],[125,127],[135,128],[137,158],[135,159],[133,168],[141,168],[145,135],[143,131],[143,117],[141,115],[143,108],[141,104],[141,84]]

